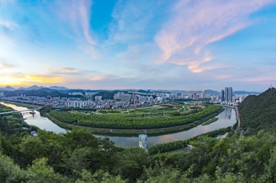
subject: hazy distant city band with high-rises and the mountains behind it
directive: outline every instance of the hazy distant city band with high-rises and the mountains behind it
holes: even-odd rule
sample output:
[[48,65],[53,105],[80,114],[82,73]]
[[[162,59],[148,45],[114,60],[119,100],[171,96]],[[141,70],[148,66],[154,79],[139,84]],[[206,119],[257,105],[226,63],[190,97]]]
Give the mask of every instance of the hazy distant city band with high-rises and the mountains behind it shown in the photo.
[[[51,89],[52,88],[52,89]],[[37,87],[0,89],[0,99],[51,107],[79,107],[95,109],[122,109],[169,103],[171,100],[203,100],[208,103],[237,106],[249,95],[257,92],[233,92],[225,87],[220,92],[202,91],[157,91],[157,90],[112,90],[95,91],[67,89],[65,87]]]

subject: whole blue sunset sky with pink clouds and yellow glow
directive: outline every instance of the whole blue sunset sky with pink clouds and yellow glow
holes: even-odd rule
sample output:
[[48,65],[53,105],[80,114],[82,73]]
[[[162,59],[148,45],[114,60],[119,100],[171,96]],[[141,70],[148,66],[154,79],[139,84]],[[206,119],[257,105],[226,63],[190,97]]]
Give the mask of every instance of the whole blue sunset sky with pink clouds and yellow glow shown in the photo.
[[276,85],[276,0],[0,0],[0,87]]

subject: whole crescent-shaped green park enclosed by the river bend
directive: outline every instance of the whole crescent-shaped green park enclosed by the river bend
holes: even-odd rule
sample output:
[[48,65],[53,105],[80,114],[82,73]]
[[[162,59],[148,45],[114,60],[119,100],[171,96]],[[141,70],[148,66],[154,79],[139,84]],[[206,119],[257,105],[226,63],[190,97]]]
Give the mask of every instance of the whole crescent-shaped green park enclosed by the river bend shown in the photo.
[[168,103],[136,109],[41,109],[41,113],[61,127],[92,127],[95,133],[160,134],[183,131],[201,125],[217,116],[223,108],[219,105]]

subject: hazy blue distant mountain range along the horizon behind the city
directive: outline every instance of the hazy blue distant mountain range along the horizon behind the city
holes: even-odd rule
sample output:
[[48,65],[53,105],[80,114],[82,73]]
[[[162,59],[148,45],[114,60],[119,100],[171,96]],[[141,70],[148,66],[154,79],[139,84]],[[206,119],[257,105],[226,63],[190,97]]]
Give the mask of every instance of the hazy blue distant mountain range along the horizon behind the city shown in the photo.
[[[33,85],[31,87],[19,87],[18,89],[14,87],[0,87],[0,92],[4,92],[6,96],[19,96],[21,94],[25,94],[26,96],[70,96],[72,92],[81,92],[84,94],[85,92],[104,92],[104,93],[115,93],[115,92],[142,92],[142,93],[150,93],[150,92],[166,92],[166,93],[177,93],[177,94],[200,94],[202,91],[195,90],[195,91],[185,91],[185,90],[143,90],[143,89],[124,89],[124,90],[90,90],[90,89],[68,89],[67,87],[59,87],[59,86],[52,86],[52,87],[43,87]],[[206,94],[215,95],[219,94],[212,89],[206,89]],[[246,91],[235,91],[233,94],[249,94],[249,95],[257,95],[260,94],[259,92],[246,92]],[[76,96],[77,97],[77,96]],[[109,98],[109,97],[108,97]]]

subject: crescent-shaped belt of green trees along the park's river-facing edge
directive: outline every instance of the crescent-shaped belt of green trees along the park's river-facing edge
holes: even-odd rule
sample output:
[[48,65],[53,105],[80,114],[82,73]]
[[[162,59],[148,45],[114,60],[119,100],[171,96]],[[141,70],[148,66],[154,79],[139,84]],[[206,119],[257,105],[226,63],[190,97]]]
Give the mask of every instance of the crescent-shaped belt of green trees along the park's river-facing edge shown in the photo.
[[217,114],[221,110],[219,105],[208,105],[204,110],[196,114],[186,116],[161,116],[157,118],[138,118],[128,114],[81,114],[70,112],[50,111],[50,116],[72,125],[106,129],[155,129],[188,125],[206,118],[211,114]]

